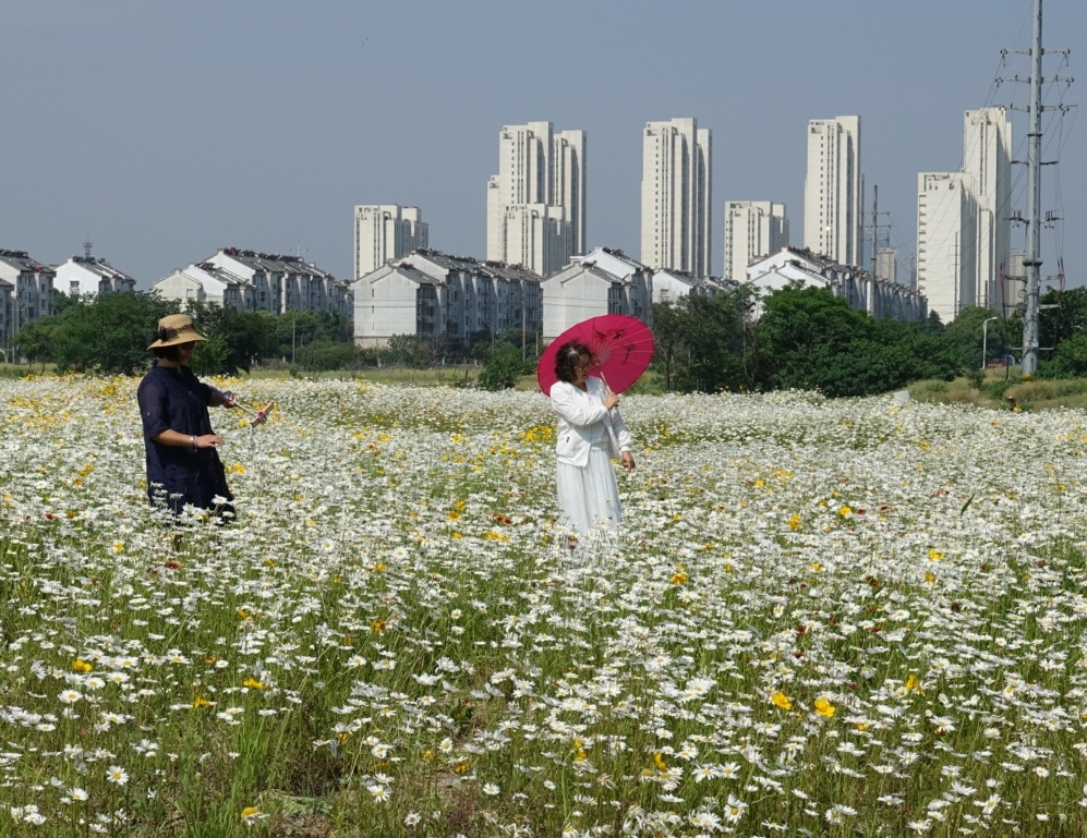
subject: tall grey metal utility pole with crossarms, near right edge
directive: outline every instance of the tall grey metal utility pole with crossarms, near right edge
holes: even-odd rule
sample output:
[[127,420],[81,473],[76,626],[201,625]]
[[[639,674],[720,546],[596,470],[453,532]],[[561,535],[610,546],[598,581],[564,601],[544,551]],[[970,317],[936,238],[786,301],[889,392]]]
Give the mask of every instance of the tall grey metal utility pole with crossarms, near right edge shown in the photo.
[[[1046,52],[1059,52],[1067,57],[1068,50],[1046,50],[1041,46],[1041,2],[1034,0],[1034,26],[1030,49],[1003,50],[1026,52],[1030,56],[1030,77],[999,78],[998,82],[1028,82],[1030,84],[1030,105],[1027,108],[1027,219],[1026,247],[1023,268],[1026,275],[1025,312],[1023,316],[1023,374],[1034,375],[1038,372],[1038,297],[1041,293],[1041,114],[1046,110],[1066,110],[1066,106],[1046,107],[1041,104],[1041,86],[1044,83],[1065,82],[1072,78],[1052,76],[1042,77],[1041,60]],[[1018,108],[1017,110],[1023,110]],[[1023,162],[1017,160],[1015,162]]]

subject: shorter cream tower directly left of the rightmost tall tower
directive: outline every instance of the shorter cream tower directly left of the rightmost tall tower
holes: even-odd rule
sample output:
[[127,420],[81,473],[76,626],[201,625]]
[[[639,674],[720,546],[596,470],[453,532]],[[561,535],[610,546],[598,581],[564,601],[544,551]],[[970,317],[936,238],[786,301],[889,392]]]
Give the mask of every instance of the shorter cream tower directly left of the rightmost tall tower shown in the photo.
[[951,323],[977,305],[978,204],[964,172],[917,175],[917,290]]

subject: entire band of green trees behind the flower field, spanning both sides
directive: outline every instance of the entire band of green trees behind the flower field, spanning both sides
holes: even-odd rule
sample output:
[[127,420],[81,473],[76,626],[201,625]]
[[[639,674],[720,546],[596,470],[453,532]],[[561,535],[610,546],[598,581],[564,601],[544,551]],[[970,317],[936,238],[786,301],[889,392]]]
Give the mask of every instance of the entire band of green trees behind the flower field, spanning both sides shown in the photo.
[[[1087,289],[1050,290],[1041,303],[1055,307],[1041,313],[1044,351],[1037,376],[1087,376]],[[23,357],[60,372],[133,375],[149,366],[147,336],[178,303],[147,292],[59,293],[55,311],[15,335]],[[478,385],[498,390],[532,373],[540,350],[539,331],[516,329],[472,335],[467,347],[447,337],[401,335],[379,350],[361,349],[350,319],[331,312],[270,315],[207,303],[184,311],[207,338],[193,357],[198,375],[269,364],[318,373],[470,362],[481,366]],[[744,287],[713,297],[685,296],[672,306],[655,305],[653,318],[652,368],[663,389],[683,392],[798,388],[865,396],[927,378],[980,378],[985,362],[1020,354],[1023,335],[1018,315],[1005,319],[989,308],[965,308],[946,325],[935,314],[919,323],[874,319],[829,291],[799,286],[761,297]]]

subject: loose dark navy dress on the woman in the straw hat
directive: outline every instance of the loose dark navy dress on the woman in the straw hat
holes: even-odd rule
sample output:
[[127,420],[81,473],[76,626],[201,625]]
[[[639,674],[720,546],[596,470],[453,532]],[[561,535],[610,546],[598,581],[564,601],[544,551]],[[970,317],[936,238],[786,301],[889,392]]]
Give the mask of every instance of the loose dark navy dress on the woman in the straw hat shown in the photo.
[[193,451],[189,446],[167,446],[153,439],[164,430],[185,436],[214,433],[207,414],[210,399],[212,388],[186,366],[153,366],[136,390],[147,456],[147,497],[165,500],[174,512],[186,503],[212,509],[216,496],[233,499],[214,448]]

